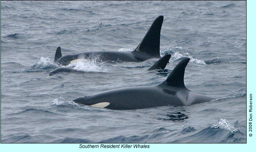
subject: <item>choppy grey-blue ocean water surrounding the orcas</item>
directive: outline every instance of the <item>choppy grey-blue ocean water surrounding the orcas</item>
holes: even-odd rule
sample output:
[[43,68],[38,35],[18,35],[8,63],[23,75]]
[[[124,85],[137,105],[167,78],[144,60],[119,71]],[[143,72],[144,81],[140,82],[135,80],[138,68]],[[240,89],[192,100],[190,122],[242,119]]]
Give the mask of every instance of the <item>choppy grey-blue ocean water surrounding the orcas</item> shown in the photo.
[[[157,61],[75,64],[62,54],[132,51],[159,15]],[[184,83],[216,98],[191,106],[109,110],[77,97],[162,83],[184,57]],[[157,101],[156,101],[157,102]],[[1,143],[245,143],[246,1],[1,1]]]

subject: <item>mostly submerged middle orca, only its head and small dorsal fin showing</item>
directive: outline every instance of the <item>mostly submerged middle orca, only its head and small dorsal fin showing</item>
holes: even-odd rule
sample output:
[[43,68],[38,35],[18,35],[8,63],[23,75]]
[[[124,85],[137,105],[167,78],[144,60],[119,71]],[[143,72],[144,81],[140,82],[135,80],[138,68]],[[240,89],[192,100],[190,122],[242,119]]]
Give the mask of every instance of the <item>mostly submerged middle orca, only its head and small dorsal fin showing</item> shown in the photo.
[[[167,63],[169,62],[169,59],[171,58],[170,54],[166,54],[164,55],[161,59],[159,59],[152,67],[150,67],[148,70],[154,70],[154,69],[164,69],[167,65]],[[86,73],[84,71],[80,71],[77,69],[74,69],[72,67],[60,67],[58,69],[55,69],[53,72],[51,72],[49,74],[49,76],[52,76],[54,74],[57,73],[63,73],[63,72],[67,72],[67,73]]]

